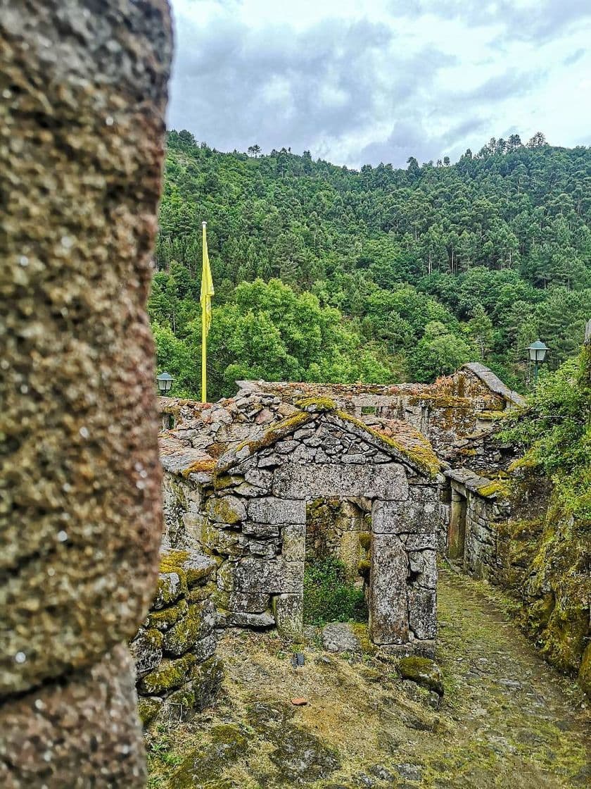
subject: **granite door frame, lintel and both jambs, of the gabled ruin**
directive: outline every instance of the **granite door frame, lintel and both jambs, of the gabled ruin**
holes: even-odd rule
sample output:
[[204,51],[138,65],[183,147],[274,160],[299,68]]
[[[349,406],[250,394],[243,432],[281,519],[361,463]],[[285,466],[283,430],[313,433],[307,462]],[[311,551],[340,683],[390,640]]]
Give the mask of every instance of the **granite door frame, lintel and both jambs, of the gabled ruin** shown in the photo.
[[[409,600],[408,578],[412,573],[409,550],[411,553],[427,550],[431,554],[429,573],[437,576],[437,569],[434,544],[431,550],[433,540],[429,540],[431,529],[423,535],[407,533],[414,525],[414,502],[404,466],[396,462],[364,466],[335,463],[327,468],[322,464],[308,466],[288,462],[282,469],[283,474],[273,482],[273,495],[266,497],[267,505],[285,513],[285,522],[281,525],[281,558],[292,589],[274,598],[277,627],[284,633],[296,634],[303,626],[307,503],[318,498],[362,497],[371,501],[370,638],[376,645],[406,644],[411,631],[409,605],[412,604]],[[414,537],[410,548],[409,536]],[[434,620],[433,610],[431,638],[434,637]]]

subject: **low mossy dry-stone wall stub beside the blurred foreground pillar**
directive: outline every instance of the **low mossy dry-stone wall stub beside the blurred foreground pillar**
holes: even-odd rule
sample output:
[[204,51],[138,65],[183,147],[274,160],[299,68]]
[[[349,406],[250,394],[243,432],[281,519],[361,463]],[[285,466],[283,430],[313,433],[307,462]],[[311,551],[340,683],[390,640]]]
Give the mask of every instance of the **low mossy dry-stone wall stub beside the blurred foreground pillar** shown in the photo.
[[219,690],[216,570],[199,552],[162,552],[156,595],[130,644],[144,727],[157,719],[190,720]]

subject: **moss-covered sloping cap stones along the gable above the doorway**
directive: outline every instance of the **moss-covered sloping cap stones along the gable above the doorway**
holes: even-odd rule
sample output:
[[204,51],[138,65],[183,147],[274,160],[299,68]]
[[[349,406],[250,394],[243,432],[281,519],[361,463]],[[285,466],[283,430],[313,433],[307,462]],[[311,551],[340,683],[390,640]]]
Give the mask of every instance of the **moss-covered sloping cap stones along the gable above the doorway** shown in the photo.
[[240,462],[273,447],[277,441],[292,436],[297,430],[312,422],[333,424],[351,433],[352,436],[374,445],[377,450],[389,455],[392,460],[409,466],[422,477],[434,479],[440,472],[440,462],[429,441],[417,431],[409,430],[403,423],[392,421],[390,424],[400,426],[400,435],[388,436],[385,432],[380,432],[338,409],[336,403],[329,398],[301,398],[297,406],[299,410],[296,413],[273,424],[262,436],[247,439],[222,454],[215,464],[215,473],[228,472]]

